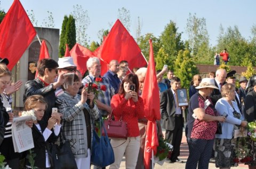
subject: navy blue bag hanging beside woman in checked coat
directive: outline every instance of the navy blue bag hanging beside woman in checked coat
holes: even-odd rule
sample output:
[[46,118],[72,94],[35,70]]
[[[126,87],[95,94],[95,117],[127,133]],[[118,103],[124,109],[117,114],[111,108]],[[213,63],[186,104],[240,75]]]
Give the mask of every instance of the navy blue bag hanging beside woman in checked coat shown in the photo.
[[[100,115],[100,137],[93,129],[93,139],[92,139],[92,156],[91,163],[95,166],[106,167],[115,162],[115,156],[113,148],[108,139],[108,134],[105,126],[102,125],[102,117]],[[94,124],[93,124],[94,126]],[[102,136],[102,128],[106,133],[106,136]]]

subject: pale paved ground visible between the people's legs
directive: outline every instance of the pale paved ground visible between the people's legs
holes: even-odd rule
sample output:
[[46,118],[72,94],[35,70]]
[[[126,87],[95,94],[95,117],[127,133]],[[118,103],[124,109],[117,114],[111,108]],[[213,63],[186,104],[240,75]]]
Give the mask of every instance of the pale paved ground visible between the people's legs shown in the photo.
[[[181,141],[180,156],[179,156],[179,158],[181,160],[183,160],[184,163],[164,163],[162,166],[159,165],[159,164],[156,164],[155,165],[155,169],[160,169],[160,168],[161,169],[165,169],[165,168],[181,169],[181,168],[185,168],[188,155],[189,155],[188,144],[187,144],[187,141],[186,141],[185,132],[183,132],[183,137],[182,137],[182,141]],[[93,168],[93,167],[91,167],[91,168]],[[106,167],[106,168],[109,168],[109,167]],[[123,157],[123,160],[122,160],[120,168],[121,169],[125,169],[125,157]],[[209,169],[215,169],[215,168],[216,168],[215,164],[213,164],[213,163],[209,164]],[[245,168],[248,168],[248,166],[247,165],[243,165],[243,164],[239,164],[238,167],[232,167],[232,168],[235,168],[235,169],[245,169]]]

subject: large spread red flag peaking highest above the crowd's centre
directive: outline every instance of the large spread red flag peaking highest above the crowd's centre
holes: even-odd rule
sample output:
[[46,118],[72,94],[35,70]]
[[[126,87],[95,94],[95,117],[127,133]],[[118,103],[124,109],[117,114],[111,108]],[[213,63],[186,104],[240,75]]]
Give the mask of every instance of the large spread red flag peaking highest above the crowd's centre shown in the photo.
[[107,64],[111,60],[117,60],[119,62],[125,60],[129,63],[131,70],[133,67],[147,65],[136,41],[119,20],[116,21],[108,36],[101,46],[93,52],[93,55],[98,56],[104,62],[101,65],[101,75],[108,71]]

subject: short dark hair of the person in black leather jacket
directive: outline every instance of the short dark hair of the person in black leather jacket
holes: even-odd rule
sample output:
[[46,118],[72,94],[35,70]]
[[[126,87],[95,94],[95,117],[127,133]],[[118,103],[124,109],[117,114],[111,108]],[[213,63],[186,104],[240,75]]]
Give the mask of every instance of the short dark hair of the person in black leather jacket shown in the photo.
[[44,76],[44,72],[46,68],[56,69],[58,67],[59,67],[58,63],[51,58],[44,58],[37,62],[37,72],[41,77]]

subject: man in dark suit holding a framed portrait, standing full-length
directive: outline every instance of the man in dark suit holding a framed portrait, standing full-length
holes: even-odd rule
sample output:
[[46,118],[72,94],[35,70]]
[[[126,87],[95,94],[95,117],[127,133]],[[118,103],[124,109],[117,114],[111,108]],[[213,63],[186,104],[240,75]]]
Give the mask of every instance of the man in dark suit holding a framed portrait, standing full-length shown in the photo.
[[167,163],[183,163],[180,155],[180,144],[183,132],[183,117],[181,107],[178,106],[175,91],[180,89],[180,79],[171,79],[171,88],[162,92],[160,99],[160,109],[162,114],[163,129],[165,129],[165,139],[173,146],[171,158],[166,159]]

